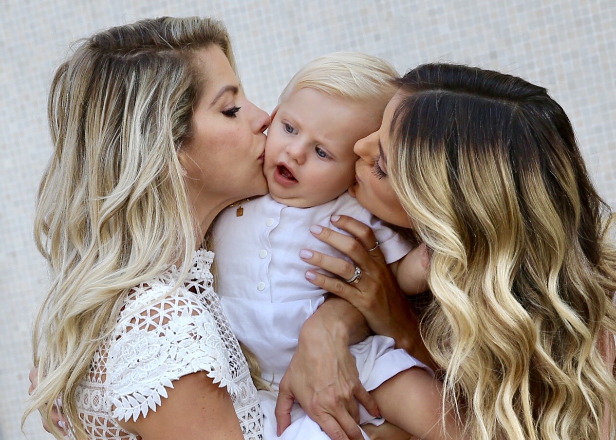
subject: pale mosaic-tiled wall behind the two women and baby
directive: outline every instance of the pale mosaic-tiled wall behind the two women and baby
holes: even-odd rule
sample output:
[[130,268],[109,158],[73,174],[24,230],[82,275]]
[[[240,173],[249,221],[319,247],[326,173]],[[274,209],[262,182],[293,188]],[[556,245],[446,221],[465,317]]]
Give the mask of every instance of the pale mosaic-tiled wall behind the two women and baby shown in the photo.
[[0,440],[49,438],[37,417],[24,434],[19,419],[47,282],[31,223],[52,73],[72,41],[156,15],[224,20],[246,92],[265,110],[294,71],[334,50],[380,55],[400,71],[448,60],[522,76],[565,108],[616,207],[616,0],[0,0]]

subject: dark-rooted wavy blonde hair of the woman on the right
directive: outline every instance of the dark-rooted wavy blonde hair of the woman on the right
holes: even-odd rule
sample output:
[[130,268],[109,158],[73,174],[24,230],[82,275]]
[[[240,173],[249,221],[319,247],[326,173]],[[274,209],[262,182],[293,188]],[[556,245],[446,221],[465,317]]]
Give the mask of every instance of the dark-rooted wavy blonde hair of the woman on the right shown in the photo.
[[610,212],[546,89],[460,65],[399,81],[389,174],[432,252],[422,336],[474,440],[616,426]]

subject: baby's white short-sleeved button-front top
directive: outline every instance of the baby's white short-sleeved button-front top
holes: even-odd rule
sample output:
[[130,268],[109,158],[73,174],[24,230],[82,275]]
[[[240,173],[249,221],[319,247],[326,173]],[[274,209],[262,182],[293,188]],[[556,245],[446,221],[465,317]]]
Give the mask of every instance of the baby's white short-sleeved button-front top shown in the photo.
[[314,266],[304,262],[299,251],[344,257],[314,238],[310,226],[338,230],[331,225],[331,215],[357,218],[373,228],[387,263],[402,258],[410,247],[347,193],[311,208],[286,206],[269,195],[243,202],[242,207],[241,217],[235,209],[226,209],[214,226],[216,290],[238,340],[257,356],[263,377],[273,377],[278,385],[297,348],[302,324],[326,294],[304,278]]

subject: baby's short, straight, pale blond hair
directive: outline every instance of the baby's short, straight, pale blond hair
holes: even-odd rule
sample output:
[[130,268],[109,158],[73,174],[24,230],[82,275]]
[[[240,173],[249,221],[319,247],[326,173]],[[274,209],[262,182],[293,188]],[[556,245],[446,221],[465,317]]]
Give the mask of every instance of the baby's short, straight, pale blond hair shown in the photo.
[[296,73],[278,98],[285,102],[293,92],[310,87],[329,95],[387,105],[397,86],[398,73],[378,57],[362,52],[333,52],[315,58]]

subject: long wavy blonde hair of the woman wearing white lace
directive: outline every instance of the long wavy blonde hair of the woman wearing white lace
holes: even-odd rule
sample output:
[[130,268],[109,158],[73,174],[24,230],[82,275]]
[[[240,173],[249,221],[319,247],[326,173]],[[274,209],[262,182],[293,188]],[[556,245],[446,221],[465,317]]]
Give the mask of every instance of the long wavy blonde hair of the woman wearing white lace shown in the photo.
[[[39,409],[52,426],[60,396],[69,420],[79,420],[79,382],[128,291],[190,261],[200,238],[177,151],[191,135],[206,80],[193,66],[195,51],[213,45],[235,70],[221,22],[140,20],[84,39],[55,73],[48,106],[54,151],[34,225],[52,283],[34,326],[39,384],[22,423]],[[87,438],[80,423],[70,429]]]

